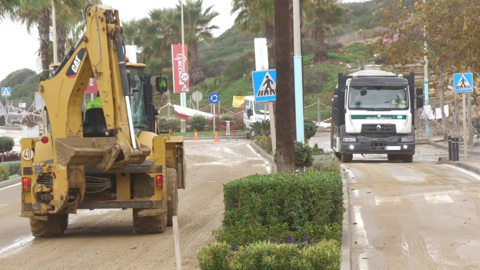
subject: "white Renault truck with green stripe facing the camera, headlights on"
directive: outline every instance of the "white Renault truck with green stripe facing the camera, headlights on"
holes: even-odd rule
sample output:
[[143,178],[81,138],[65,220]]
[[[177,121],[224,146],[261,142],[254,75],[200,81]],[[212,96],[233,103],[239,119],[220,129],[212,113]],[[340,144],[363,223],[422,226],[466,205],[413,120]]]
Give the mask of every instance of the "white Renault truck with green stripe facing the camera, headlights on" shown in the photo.
[[[342,162],[353,154],[387,154],[412,162],[415,154],[414,73],[378,69],[338,74],[332,99],[331,148]],[[423,89],[417,88],[417,96]],[[417,97],[417,107],[423,98]]]

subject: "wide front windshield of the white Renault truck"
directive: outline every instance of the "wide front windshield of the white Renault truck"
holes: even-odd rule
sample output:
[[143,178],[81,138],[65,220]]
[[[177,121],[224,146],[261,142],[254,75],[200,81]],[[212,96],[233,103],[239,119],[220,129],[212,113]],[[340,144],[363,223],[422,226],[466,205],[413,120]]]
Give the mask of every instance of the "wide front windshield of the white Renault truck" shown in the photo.
[[407,110],[407,86],[350,86],[349,110]]

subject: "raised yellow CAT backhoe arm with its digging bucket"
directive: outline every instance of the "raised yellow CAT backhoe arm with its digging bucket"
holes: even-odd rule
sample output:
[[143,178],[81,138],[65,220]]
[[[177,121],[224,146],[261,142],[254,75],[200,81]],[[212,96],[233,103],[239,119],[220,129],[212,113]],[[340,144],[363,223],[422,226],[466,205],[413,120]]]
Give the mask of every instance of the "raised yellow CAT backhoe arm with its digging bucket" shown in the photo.
[[[95,75],[106,128],[115,137],[85,138],[82,102]],[[47,107],[56,161],[62,166],[97,166],[107,170],[141,164],[150,149],[133,132],[130,89],[117,10],[92,5],[86,31],[39,92]]]

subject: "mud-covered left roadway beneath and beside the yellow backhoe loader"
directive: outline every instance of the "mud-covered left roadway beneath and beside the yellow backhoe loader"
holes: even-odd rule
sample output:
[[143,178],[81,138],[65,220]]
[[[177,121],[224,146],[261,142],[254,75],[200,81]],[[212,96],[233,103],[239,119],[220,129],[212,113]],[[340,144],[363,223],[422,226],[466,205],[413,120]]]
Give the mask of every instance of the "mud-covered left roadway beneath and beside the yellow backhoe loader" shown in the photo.
[[[221,226],[223,184],[270,170],[239,142],[187,141],[187,188],[179,190],[182,269],[198,269],[196,250]],[[266,166],[265,166],[266,165]],[[133,233],[132,210],[79,210],[61,238],[34,239],[20,218],[20,185],[0,190],[0,269],[175,269],[173,230]]]

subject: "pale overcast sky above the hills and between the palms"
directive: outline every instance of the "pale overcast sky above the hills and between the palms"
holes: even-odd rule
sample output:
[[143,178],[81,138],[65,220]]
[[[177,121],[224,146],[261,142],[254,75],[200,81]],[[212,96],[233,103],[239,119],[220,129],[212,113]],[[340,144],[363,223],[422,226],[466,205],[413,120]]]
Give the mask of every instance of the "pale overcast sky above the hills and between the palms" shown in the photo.
[[[360,2],[364,0],[344,0],[344,2]],[[103,0],[105,5],[111,6],[120,13],[120,19],[126,21],[132,18],[143,18],[148,11],[154,8],[174,7],[176,0]],[[230,0],[204,0],[205,7],[213,5],[213,10],[220,13],[213,24],[220,27],[213,31],[214,37],[218,37],[233,25],[234,17],[230,17]],[[31,35],[27,34],[23,25],[15,25],[5,20],[0,22],[0,81],[8,74],[22,68],[29,68],[41,72],[36,65],[38,58],[36,51],[39,48],[38,32],[36,26]],[[252,40],[253,43],[253,40]],[[67,48],[68,49],[68,48]]]

